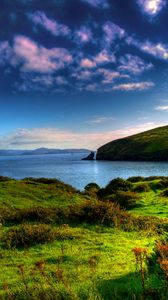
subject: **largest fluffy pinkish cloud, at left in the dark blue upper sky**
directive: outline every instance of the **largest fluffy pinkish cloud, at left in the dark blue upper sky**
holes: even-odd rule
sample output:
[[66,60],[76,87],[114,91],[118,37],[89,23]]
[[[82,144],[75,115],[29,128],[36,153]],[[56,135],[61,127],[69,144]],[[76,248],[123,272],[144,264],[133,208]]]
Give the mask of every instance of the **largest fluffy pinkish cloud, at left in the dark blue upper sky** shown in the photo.
[[21,65],[23,72],[53,73],[72,62],[64,48],[47,49],[25,36],[16,36],[13,46],[13,65]]

